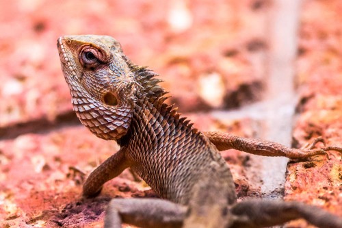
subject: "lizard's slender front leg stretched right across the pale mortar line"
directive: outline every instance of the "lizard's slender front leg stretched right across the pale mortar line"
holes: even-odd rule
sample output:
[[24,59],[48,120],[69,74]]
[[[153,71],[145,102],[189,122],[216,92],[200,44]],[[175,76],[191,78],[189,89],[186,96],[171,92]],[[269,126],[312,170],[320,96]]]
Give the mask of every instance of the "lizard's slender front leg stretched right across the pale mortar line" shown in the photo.
[[244,138],[216,131],[206,131],[203,132],[203,134],[207,136],[210,142],[213,143],[219,151],[237,149],[239,151],[244,151],[255,155],[270,157],[282,156],[288,157],[290,159],[305,158],[315,155],[326,155],[326,151],[339,151],[342,153],[341,147],[324,147],[313,149],[315,144],[321,141],[319,139],[315,140],[315,142],[311,144],[311,147],[306,149],[295,149],[285,147],[277,142],[262,139]]

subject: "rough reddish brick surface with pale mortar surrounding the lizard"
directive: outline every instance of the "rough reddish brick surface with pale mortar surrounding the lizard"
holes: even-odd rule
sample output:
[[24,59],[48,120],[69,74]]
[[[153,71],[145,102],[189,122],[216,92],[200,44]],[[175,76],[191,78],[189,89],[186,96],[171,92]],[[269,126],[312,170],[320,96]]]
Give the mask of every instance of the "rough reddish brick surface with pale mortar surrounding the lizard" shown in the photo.
[[[339,0],[0,0],[0,227],[101,227],[109,199],[155,196],[124,172],[81,199],[86,175],[118,146],[77,120],[59,36],[116,38],[198,129],[341,145],[341,13]],[[304,164],[222,155],[239,199],[285,197],[342,216],[338,155]]]

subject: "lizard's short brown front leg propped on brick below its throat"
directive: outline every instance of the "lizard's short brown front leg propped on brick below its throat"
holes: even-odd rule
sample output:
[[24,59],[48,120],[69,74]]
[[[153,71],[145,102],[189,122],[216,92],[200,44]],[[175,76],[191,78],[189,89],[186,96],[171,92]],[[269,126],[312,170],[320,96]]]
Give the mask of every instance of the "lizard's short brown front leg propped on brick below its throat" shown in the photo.
[[126,147],[121,147],[117,153],[111,155],[105,162],[90,173],[86,183],[83,185],[83,196],[96,197],[101,192],[105,182],[120,175],[131,163],[125,157]]

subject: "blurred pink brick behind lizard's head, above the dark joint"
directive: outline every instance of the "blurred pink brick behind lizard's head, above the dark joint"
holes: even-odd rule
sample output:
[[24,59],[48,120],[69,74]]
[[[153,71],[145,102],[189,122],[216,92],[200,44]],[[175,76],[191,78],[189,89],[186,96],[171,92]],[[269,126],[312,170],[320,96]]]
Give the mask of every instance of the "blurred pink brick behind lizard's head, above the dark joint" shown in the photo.
[[262,87],[270,4],[1,1],[0,126],[70,110],[55,45],[67,34],[113,36],[135,64],[161,75],[183,111],[238,107]]

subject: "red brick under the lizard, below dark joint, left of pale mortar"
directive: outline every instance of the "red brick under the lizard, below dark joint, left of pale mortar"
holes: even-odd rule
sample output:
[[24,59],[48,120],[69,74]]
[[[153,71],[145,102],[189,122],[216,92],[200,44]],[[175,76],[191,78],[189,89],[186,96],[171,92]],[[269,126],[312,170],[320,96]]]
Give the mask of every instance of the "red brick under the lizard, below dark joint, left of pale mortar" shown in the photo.
[[[189,118],[202,130],[240,136],[253,132],[248,119],[222,121],[209,114],[191,114]],[[156,197],[146,183],[134,181],[125,170],[105,184],[100,196],[81,198],[85,175],[116,151],[115,142],[96,138],[83,126],[0,140],[0,226],[96,227],[102,224],[110,199]],[[254,165],[250,156],[234,150],[224,151],[222,156],[231,168],[238,196],[260,196],[256,179],[250,179],[250,166]]]

